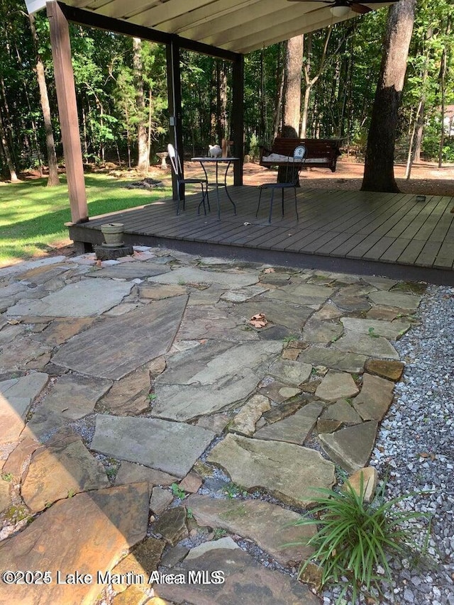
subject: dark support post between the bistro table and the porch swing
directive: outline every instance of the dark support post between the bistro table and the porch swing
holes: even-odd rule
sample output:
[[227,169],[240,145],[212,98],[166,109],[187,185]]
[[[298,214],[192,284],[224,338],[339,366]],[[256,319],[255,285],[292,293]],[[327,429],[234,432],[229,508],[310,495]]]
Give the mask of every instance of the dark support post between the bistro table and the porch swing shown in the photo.
[[232,68],[232,133],[233,149],[240,158],[235,162],[233,184],[243,184],[244,160],[244,55],[238,55]]

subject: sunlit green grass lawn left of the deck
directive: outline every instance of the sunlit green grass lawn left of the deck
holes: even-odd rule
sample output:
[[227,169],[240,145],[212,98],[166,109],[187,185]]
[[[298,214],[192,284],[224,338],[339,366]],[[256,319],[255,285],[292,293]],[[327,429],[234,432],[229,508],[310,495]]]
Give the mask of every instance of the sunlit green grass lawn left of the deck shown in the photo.
[[[46,187],[47,179],[0,184],[0,265],[41,256],[70,243],[65,223],[71,220],[66,179]],[[143,206],[172,196],[170,188],[125,189],[136,177],[117,179],[86,174],[89,216]]]

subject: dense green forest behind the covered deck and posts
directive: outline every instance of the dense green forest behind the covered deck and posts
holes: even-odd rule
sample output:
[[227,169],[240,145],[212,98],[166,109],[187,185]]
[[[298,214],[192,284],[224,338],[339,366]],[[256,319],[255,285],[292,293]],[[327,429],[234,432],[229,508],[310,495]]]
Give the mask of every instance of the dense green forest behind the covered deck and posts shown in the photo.
[[[48,166],[52,140],[62,161],[48,20],[30,19],[22,0],[0,0],[1,177]],[[454,162],[454,6],[419,0],[397,127],[396,161]],[[341,138],[361,156],[382,60],[387,9],[303,37],[301,120],[308,138]],[[165,47],[70,25],[84,162],[123,167],[157,161],[168,142]],[[245,56],[245,152],[257,157],[282,127],[287,43]],[[48,94],[48,118],[43,79]],[[206,152],[229,138],[231,66],[182,51],[184,150]],[[453,108],[454,109],[454,108]],[[443,127],[443,116],[450,123]]]

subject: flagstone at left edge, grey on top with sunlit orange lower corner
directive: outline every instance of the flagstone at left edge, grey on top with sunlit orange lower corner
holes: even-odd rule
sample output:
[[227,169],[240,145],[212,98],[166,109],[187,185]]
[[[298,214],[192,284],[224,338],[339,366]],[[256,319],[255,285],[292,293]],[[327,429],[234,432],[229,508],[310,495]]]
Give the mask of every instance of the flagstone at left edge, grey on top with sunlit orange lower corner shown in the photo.
[[32,401],[48,383],[48,374],[34,372],[0,382],[0,443],[18,440]]

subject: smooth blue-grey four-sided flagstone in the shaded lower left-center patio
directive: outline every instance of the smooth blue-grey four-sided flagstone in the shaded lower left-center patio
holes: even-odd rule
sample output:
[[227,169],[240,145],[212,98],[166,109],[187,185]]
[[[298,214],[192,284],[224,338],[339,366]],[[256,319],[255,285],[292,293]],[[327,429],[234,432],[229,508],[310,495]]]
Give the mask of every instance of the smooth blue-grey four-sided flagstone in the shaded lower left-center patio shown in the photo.
[[96,418],[92,450],[184,477],[214,438],[206,428],[157,418]]

